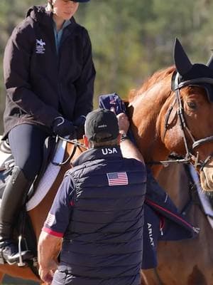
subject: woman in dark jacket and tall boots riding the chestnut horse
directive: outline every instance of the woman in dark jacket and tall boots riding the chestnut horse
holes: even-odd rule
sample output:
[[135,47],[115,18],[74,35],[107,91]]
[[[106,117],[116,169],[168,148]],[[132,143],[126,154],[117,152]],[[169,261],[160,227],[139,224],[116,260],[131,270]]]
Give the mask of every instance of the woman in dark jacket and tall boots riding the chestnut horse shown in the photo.
[[[15,167],[0,209],[1,260],[18,261],[13,226],[41,167],[49,135],[75,135],[92,110],[95,70],[87,30],[73,15],[79,2],[48,0],[33,6],[9,38],[4,53],[4,140]],[[14,199],[13,199],[14,197]],[[22,251],[22,259],[30,252]]]

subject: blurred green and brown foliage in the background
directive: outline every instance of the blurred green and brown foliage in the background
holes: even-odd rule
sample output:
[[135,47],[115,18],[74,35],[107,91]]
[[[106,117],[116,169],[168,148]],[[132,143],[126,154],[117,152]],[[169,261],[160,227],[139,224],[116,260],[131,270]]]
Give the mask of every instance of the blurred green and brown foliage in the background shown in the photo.
[[[0,1],[1,118],[4,48],[13,27],[33,4],[45,4],[45,0]],[[210,0],[92,0],[80,4],[75,18],[89,31],[97,69],[94,106],[99,94],[116,92],[124,98],[151,73],[172,65],[175,37],[192,62],[206,63],[213,48],[212,11]]]

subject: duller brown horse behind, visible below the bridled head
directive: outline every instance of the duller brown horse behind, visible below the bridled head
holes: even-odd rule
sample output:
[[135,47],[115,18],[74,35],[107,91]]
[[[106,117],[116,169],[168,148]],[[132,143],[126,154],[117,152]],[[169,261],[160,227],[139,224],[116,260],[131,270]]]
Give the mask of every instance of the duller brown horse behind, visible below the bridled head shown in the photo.
[[[144,271],[148,284],[213,284],[213,229],[204,214],[187,165],[171,164],[163,168],[158,182],[181,212],[200,227],[196,239],[158,243],[158,268]],[[160,283],[161,282],[161,283]]]

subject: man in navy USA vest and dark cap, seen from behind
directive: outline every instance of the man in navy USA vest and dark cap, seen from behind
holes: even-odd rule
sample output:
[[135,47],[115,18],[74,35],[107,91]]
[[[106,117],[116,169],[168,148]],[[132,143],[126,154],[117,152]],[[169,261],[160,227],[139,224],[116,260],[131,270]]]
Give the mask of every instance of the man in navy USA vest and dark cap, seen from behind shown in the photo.
[[121,155],[132,142],[110,110],[87,115],[84,143],[89,150],[67,171],[40,234],[40,278],[55,285],[139,285],[146,167],[141,157]]

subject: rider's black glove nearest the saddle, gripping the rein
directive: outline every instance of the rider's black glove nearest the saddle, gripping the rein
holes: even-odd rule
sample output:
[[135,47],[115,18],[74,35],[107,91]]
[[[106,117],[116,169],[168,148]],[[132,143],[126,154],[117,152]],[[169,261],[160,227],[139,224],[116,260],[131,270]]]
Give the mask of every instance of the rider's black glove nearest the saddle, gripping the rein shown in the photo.
[[65,137],[66,135],[73,137],[75,134],[75,127],[70,120],[63,117],[57,117],[53,121],[53,133],[60,137]]

